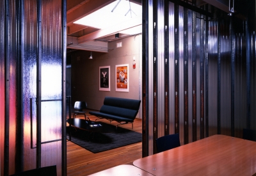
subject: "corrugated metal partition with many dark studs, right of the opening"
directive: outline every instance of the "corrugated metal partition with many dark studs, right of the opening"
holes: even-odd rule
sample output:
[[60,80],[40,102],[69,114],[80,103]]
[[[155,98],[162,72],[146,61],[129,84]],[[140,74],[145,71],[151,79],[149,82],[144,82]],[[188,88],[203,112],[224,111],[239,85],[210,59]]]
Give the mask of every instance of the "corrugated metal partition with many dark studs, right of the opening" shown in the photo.
[[195,3],[143,1],[143,156],[166,134],[179,132],[184,145],[255,129],[255,33]]

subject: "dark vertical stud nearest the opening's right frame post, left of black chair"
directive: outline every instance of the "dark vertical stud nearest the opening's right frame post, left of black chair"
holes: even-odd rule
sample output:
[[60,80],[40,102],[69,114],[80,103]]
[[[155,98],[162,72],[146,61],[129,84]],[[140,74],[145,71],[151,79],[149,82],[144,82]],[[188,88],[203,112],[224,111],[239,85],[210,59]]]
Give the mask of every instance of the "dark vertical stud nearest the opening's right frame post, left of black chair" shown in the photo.
[[154,92],[154,102],[153,102],[153,127],[154,127],[154,134],[153,134],[153,143],[154,153],[157,152],[156,150],[156,139],[158,138],[158,118],[157,118],[157,64],[158,64],[158,52],[157,52],[157,1],[153,1],[153,22],[154,26],[153,29],[153,57],[154,57],[154,64],[153,64],[153,92]]

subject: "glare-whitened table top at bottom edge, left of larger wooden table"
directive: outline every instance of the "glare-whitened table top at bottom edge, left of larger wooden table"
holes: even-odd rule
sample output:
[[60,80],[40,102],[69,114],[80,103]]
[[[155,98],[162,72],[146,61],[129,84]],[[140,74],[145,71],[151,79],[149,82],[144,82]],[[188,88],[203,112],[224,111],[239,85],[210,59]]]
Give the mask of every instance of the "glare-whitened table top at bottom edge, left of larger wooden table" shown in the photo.
[[109,168],[107,170],[103,170],[101,172],[93,173],[89,176],[152,176],[152,174],[145,172],[144,170],[141,170],[140,168],[137,168],[132,165],[123,164],[119,166],[115,166],[113,168]]

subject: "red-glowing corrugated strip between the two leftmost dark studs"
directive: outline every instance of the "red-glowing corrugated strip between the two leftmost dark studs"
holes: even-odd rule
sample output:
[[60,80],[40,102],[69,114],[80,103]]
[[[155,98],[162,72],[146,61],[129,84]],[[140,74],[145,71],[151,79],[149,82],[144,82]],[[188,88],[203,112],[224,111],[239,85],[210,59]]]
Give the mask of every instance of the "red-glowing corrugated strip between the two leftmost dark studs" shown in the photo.
[[[15,6],[18,6],[18,4],[15,4],[14,1],[10,1],[8,4],[8,45],[7,47],[7,57],[6,57],[6,90],[8,93],[6,93],[6,121],[8,121],[8,133],[9,133],[9,139],[7,145],[9,147],[8,152],[8,162],[9,162],[9,172],[8,174],[15,173],[15,156],[19,150],[19,146],[16,145],[17,138],[17,132],[16,129],[18,128],[17,124],[17,113],[19,109],[17,109],[17,98],[19,95],[17,94],[17,88],[19,82],[17,81],[17,48],[15,47],[16,44],[16,37],[19,35],[17,33],[17,29],[15,26],[15,15],[16,9]],[[7,125],[7,124],[6,124]],[[7,136],[6,136],[7,137]],[[20,139],[19,139],[20,140]],[[19,143],[19,140],[17,140],[17,143]]]

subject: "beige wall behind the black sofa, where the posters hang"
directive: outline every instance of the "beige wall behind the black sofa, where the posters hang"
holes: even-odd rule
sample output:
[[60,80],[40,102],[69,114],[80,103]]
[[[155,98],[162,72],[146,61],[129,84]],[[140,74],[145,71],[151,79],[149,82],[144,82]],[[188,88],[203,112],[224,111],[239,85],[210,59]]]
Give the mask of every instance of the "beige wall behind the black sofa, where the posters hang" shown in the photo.
[[[122,47],[116,48],[117,42],[122,42]],[[92,52],[92,60],[88,59],[90,51],[68,53],[72,57],[72,104],[84,100],[88,108],[99,110],[106,96],[141,99],[141,35],[109,42],[108,48],[108,53]],[[136,68],[132,68],[132,63],[136,63]],[[129,92],[115,89],[115,67],[122,64],[129,64]],[[99,90],[99,67],[102,66],[110,66],[108,92]],[[140,116],[138,113],[137,118]]]

